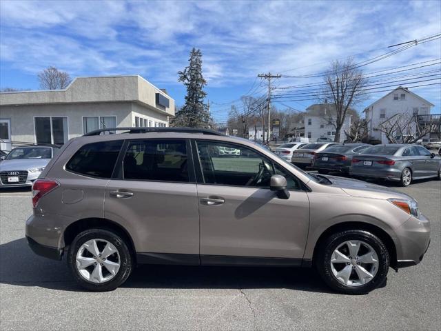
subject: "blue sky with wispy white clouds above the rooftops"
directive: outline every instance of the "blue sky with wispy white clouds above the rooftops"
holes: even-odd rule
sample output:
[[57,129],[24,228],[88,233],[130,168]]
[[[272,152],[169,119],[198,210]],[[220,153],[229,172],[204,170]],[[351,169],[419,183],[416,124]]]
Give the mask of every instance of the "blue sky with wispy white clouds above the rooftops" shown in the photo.
[[[140,74],[183,103],[177,81],[192,47],[218,121],[260,72],[321,72],[333,59],[356,61],[387,46],[441,32],[441,2],[425,1],[8,1],[0,2],[0,87],[37,89],[37,72],[56,66],[72,77]],[[441,39],[363,67],[374,72],[441,58]],[[431,66],[432,70],[441,65]],[[256,82],[255,85],[254,82]],[[276,86],[320,83],[278,79]],[[433,83],[437,81],[430,81]],[[438,80],[439,82],[439,80]],[[440,85],[413,90],[440,113]],[[383,94],[371,94],[362,108]],[[304,110],[314,101],[284,102]],[[240,103],[236,101],[236,105]],[[280,108],[285,108],[276,103]]]

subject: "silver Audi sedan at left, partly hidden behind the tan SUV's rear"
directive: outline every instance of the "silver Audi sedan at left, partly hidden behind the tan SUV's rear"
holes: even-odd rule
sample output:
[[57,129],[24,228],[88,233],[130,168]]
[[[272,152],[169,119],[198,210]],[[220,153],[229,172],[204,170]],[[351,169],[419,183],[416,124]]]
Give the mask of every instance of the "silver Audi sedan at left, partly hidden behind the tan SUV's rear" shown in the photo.
[[0,163],[0,188],[32,186],[57,150],[52,146],[12,149]]

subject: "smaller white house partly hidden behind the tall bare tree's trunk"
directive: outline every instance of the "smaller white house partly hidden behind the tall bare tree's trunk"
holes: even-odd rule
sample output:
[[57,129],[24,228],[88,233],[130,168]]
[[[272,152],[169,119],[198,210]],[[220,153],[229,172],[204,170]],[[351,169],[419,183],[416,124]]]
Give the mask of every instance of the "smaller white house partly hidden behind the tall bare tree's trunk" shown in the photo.
[[[355,110],[349,109],[340,131],[340,143],[347,139],[345,130],[348,130],[351,126],[353,116],[356,116]],[[331,103],[309,106],[305,112],[305,137],[313,142],[318,138],[329,138],[334,141],[336,128],[332,123],[334,123],[335,118],[335,106]]]

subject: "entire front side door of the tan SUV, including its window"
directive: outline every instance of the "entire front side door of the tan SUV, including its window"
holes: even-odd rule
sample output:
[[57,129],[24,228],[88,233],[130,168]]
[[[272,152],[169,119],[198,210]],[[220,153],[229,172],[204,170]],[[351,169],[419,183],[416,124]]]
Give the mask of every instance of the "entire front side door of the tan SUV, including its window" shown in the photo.
[[[223,147],[239,149],[240,155],[219,156],[216,150]],[[239,144],[194,141],[192,150],[198,175],[201,263],[212,264],[216,256],[300,261],[309,227],[307,193],[291,189],[285,200],[269,190],[274,171],[285,172],[289,188],[300,188],[289,171],[280,165],[274,168],[272,161]]]

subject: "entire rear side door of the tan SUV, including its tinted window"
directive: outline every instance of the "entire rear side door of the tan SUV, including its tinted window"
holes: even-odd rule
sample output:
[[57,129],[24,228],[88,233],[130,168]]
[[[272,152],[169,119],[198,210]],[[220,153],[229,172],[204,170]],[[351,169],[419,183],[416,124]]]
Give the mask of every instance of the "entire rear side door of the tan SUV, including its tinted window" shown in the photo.
[[198,197],[190,150],[185,139],[126,141],[105,189],[104,216],[123,225],[137,254],[192,254],[198,263]]

